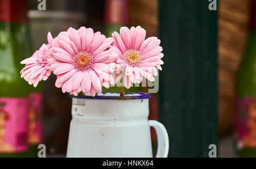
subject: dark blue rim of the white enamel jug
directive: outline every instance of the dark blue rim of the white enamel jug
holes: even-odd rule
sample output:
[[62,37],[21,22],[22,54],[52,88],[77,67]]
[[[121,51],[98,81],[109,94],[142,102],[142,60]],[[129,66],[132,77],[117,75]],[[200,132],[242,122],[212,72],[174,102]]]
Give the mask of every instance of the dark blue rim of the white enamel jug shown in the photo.
[[[104,94],[117,94],[115,96],[106,96]],[[103,94],[103,95],[102,95]],[[146,92],[125,92],[125,96],[119,96],[119,92],[102,92],[96,96],[90,95],[68,95],[69,98],[78,99],[96,99],[96,100],[135,100],[135,99],[151,99],[152,95]]]

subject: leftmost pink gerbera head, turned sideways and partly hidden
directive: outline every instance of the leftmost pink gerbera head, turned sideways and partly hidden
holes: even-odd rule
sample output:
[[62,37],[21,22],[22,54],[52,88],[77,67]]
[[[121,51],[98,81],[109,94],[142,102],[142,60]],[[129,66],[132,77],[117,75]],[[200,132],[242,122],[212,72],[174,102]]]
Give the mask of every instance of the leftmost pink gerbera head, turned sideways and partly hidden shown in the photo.
[[20,62],[20,64],[26,64],[20,71],[21,77],[24,78],[28,84],[33,84],[34,87],[36,87],[42,79],[46,81],[49,75],[51,75],[49,64],[47,64],[48,58],[51,57],[49,49],[51,49],[52,41],[54,41],[51,33],[48,33],[47,39],[51,43],[47,45],[43,44],[30,58],[26,58]]

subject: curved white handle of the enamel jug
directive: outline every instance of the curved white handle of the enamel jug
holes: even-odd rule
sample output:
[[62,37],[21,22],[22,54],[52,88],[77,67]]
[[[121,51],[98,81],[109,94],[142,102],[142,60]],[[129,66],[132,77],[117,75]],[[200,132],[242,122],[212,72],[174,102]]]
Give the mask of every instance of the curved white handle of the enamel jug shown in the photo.
[[149,125],[156,130],[158,137],[158,150],[156,151],[156,158],[165,158],[169,151],[169,138],[166,128],[163,124],[155,120],[149,120]]

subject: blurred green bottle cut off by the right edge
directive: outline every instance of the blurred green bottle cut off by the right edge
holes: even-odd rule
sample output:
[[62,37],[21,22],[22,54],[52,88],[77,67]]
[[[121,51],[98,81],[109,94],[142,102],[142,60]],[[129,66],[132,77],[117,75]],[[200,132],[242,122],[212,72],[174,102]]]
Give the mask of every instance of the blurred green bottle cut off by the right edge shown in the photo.
[[256,157],[256,0],[251,7],[251,29],[237,79],[236,136],[240,157]]

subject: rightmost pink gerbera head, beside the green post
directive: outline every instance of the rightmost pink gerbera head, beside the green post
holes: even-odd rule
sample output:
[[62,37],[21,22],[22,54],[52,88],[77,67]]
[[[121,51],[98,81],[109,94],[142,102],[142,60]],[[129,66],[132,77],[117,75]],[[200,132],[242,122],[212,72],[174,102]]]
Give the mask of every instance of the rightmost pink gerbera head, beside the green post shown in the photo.
[[163,57],[160,47],[160,40],[157,37],[146,37],[146,31],[138,27],[120,28],[120,34],[112,33],[114,43],[110,49],[118,54],[115,69],[115,82],[121,77],[123,71],[125,75],[123,82],[126,88],[130,88],[131,83],[141,83],[142,77],[149,81],[155,81],[154,76],[158,74],[156,67],[162,70]]

